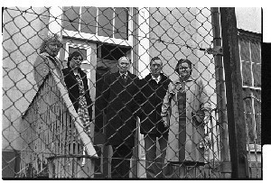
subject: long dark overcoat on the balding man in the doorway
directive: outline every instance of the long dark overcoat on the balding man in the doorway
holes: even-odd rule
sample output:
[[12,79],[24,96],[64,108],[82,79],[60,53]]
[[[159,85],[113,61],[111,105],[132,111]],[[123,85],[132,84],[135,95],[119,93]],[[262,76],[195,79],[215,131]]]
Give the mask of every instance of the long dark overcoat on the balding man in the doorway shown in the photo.
[[139,106],[135,103],[135,95],[139,90],[138,82],[139,79],[130,72],[126,83],[120,78],[119,72],[104,78],[101,101],[107,114],[107,122],[104,124],[109,145],[135,145],[135,113]]

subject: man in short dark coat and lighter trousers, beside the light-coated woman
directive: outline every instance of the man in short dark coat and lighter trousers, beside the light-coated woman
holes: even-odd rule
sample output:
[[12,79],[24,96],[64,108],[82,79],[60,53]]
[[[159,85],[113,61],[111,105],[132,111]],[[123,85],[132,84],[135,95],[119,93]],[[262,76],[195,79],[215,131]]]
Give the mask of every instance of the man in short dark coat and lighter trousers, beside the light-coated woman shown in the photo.
[[[146,178],[163,178],[164,158],[168,139],[168,128],[164,126],[161,108],[170,79],[162,72],[163,62],[154,57],[150,62],[151,73],[141,79],[142,114],[140,133],[145,140]],[[159,142],[161,159],[156,157],[156,140]]]

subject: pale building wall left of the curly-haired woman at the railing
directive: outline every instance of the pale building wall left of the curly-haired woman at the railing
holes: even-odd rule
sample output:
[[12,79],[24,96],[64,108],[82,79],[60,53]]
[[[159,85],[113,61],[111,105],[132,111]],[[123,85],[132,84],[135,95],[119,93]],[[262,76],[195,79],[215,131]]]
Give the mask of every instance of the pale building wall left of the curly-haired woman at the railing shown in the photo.
[[[25,10],[27,13],[23,12]],[[23,129],[20,129],[20,119],[36,93],[33,62],[42,38],[48,33],[48,15],[45,7],[8,7],[3,13],[4,150],[21,149],[19,132]]]

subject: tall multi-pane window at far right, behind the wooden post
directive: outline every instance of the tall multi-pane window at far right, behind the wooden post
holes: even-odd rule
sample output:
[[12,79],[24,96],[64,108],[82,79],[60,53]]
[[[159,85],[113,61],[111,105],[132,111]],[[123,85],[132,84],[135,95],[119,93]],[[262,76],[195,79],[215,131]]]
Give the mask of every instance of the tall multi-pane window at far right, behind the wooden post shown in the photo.
[[239,51],[245,100],[248,141],[261,142],[261,36],[239,30]]

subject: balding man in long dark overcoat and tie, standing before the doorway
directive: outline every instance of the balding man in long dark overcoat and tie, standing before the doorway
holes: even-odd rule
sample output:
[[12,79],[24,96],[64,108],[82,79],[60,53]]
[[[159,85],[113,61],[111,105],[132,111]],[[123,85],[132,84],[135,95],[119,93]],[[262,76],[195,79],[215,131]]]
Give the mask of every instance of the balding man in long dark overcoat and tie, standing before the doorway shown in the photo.
[[135,95],[138,93],[138,78],[131,74],[130,59],[118,59],[118,72],[104,80],[102,105],[106,108],[107,144],[113,148],[111,161],[112,178],[129,178],[130,159],[135,146],[135,113],[138,106]]

